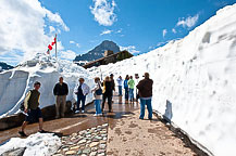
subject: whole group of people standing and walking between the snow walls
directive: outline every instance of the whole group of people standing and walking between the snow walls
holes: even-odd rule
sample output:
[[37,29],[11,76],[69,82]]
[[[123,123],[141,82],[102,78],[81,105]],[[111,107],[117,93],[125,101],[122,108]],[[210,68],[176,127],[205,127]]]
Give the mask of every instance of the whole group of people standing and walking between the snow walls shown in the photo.
[[[151,98],[152,98],[152,84],[153,81],[149,78],[149,74],[145,73],[144,79],[138,82],[136,86],[138,90],[138,96],[140,98],[140,119],[145,117],[145,106],[147,105],[149,112],[149,119],[152,119],[152,106],[151,106]],[[120,76],[117,78],[119,84],[119,95],[122,96],[122,86],[124,86],[125,90],[125,100],[134,102],[134,89],[135,89],[135,80],[133,76],[126,76],[125,80]],[[35,119],[39,120],[39,132],[45,132],[42,129],[42,114],[39,108],[39,98],[40,98],[40,82],[36,81],[34,83],[34,89],[29,90],[24,100],[24,114],[26,115],[25,121],[22,125],[21,131],[18,133],[22,136],[26,136],[25,128],[29,121]],[[112,99],[113,93],[115,91],[115,82],[114,76],[111,74],[107,76],[104,80],[101,82],[99,77],[95,78],[95,88],[90,90],[88,84],[85,83],[84,78],[78,79],[78,83],[74,89],[74,93],[77,95],[76,110],[75,113],[85,113],[85,102],[86,96],[92,92],[94,93],[94,104],[96,114],[95,116],[101,116],[104,110],[104,103],[108,100],[109,113],[112,112]],[[64,117],[65,113],[65,104],[66,104],[66,95],[69,94],[69,87],[63,81],[63,77],[59,78],[59,82],[53,88],[53,94],[55,95],[55,118]],[[136,98],[137,99],[137,98]],[[82,104],[82,106],[80,106]]]

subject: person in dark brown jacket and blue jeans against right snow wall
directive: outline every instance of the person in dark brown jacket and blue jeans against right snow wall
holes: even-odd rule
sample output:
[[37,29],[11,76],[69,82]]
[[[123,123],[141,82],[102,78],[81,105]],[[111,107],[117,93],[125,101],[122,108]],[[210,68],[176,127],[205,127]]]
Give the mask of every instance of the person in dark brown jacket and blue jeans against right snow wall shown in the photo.
[[145,73],[145,79],[140,80],[137,84],[138,93],[140,96],[140,116],[139,119],[144,119],[145,117],[145,106],[148,108],[148,118],[152,119],[152,84],[153,80],[149,78],[149,74]]

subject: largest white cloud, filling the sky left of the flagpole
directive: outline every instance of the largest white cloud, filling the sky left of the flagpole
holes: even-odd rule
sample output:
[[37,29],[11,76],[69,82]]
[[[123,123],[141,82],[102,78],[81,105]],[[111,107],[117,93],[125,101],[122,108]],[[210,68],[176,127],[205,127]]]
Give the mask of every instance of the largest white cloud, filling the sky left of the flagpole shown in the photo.
[[[20,62],[45,53],[53,40],[46,28],[51,32],[60,28],[70,30],[59,13],[47,10],[38,0],[0,0],[1,58],[15,55]],[[22,55],[17,55],[20,52]]]

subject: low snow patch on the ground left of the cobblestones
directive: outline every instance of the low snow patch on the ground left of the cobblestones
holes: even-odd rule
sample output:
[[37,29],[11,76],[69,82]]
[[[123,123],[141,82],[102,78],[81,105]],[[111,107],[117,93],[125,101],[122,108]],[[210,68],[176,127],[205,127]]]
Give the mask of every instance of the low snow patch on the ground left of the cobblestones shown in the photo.
[[0,146],[0,155],[11,150],[26,147],[24,156],[49,156],[58,152],[61,146],[59,136],[52,133],[36,133],[27,139],[12,138]]

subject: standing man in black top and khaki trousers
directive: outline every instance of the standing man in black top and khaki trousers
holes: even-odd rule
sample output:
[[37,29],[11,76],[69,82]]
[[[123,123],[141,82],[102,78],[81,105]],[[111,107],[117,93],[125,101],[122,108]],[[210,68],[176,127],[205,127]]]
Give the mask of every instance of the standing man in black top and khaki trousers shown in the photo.
[[59,82],[54,86],[53,93],[55,95],[55,118],[60,118],[60,115],[64,117],[69,86],[63,82],[63,77],[59,78]]

